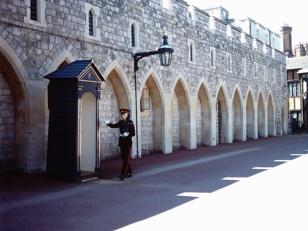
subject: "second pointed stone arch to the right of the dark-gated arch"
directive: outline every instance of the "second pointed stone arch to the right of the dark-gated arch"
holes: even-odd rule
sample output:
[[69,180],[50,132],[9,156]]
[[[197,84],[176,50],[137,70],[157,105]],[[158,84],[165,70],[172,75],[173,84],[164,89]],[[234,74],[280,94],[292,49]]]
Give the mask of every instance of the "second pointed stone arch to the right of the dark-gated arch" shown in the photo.
[[257,139],[255,103],[251,87],[246,96],[246,137],[247,139]]

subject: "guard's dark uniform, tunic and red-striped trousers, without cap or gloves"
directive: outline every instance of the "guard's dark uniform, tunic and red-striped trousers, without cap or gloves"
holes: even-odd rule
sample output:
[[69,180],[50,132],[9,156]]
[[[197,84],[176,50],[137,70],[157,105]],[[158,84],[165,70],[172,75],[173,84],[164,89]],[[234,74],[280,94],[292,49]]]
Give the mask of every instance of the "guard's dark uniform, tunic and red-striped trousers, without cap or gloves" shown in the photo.
[[[128,136],[124,137],[125,128],[128,125]],[[121,174],[125,175],[132,173],[131,166],[129,164],[129,158],[132,150],[132,137],[135,136],[135,126],[132,120],[120,120],[115,124],[107,124],[110,128],[120,128],[119,147],[121,148],[123,166]]]

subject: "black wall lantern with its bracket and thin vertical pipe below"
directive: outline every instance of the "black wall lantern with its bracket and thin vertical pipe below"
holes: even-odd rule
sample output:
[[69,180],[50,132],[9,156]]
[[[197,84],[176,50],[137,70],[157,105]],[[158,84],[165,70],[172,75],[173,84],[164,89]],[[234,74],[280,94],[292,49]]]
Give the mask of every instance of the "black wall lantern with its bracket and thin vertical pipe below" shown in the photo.
[[144,57],[159,54],[160,65],[161,66],[170,66],[171,57],[172,57],[172,53],[173,53],[174,50],[168,43],[168,34],[167,34],[166,27],[164,27],[163,34],[164,34],[163,44],[160,45],[160,48],[157,51],[140,52],[140,53],[133,54],[133,57],[134,57],[134,72],[135,72],[135,97],[136,97],[137,158],[139,157],[139,151],[138,151],[138,115],[137,115],[137,78],[136,78],[136,72],[139,69],[138,61],[140,59],[143,59]]

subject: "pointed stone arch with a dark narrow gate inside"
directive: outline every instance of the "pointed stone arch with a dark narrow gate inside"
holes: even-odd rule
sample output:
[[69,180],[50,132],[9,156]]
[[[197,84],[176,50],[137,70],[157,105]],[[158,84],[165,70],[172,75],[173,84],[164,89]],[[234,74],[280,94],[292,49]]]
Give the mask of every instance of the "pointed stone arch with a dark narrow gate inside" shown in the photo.
[[221,83],[217,87],[216,93],[217,100],[217,121],[218,121],[218,134],[217,142],[229,143],[229,108],[228,108],[228,92],[225,84]]

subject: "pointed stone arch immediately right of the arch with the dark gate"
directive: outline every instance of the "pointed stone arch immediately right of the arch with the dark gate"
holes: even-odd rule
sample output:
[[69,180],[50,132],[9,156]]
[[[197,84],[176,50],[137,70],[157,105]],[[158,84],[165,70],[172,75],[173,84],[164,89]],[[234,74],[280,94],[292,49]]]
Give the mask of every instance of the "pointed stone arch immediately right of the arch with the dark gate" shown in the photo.
[[232,138],[233,140],[245,140],[243,120],[243,97],[238,83],[235,85],[232,96]]

